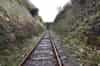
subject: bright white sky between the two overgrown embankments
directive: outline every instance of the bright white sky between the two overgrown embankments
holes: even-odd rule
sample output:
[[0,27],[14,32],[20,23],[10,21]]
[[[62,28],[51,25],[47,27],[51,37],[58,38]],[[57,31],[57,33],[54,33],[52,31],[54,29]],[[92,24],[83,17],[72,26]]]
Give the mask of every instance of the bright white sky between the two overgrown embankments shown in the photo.
[[45,22],[54,21],[56,15],[59,12],[59,8],[62,8],[70,0],[29,0],[37,8],[39,8],[39,15],[42,16]]

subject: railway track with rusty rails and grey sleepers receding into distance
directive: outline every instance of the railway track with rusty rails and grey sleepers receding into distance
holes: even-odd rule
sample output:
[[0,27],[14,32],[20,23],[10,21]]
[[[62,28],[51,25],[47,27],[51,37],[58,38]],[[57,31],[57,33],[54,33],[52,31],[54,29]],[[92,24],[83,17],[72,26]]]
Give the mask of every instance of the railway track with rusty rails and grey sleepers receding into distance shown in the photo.
[[46,32],[20,66],[67,66],[65,64],[66,57],[61,57],[60,52],[50,33]]

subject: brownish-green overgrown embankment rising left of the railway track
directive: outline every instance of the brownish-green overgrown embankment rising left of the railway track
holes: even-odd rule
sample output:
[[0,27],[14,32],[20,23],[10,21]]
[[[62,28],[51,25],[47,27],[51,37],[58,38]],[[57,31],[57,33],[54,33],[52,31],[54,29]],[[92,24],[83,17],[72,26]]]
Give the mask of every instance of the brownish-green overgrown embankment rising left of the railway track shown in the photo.
[[26,39],[43,30],[37,8],[27,0],[0,0],[0,65],[18,66],[32,45]]

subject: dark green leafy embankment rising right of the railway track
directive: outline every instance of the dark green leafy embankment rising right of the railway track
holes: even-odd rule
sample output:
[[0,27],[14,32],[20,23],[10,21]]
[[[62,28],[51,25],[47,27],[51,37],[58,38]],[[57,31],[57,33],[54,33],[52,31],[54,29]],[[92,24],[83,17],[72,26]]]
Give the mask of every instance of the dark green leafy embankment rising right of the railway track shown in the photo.
[[63,37],[65,49],[71,48],[72,55],[84,66],[97,66],[100,62],[99,7],[99,0],[72,0],[51,25]]

